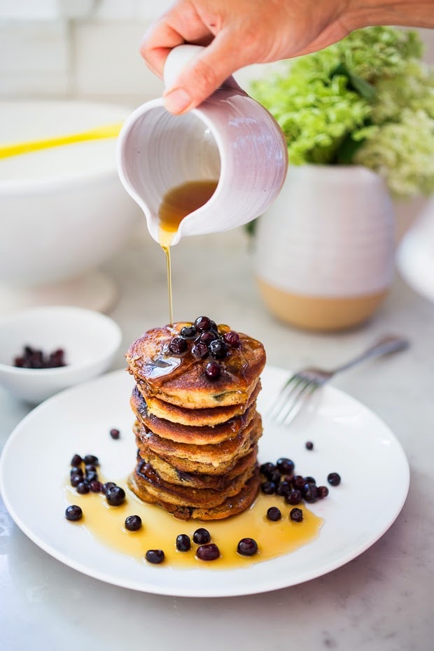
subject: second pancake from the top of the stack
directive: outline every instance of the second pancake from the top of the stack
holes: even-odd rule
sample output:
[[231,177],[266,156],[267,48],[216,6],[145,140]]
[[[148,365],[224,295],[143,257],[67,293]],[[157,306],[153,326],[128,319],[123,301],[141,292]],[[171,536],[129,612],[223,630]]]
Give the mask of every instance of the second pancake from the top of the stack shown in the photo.
[[177,407],[176,405],[171,405],[169,402],[163,402],[163,400],[153,398],[151,395],[144,393],[143,387],[137,386],[146,400],[148,414],[172,421],[172,423],[200,427],[205,425],[218,425],[219,423],[227,422],[235,416],[242,416],[246,409],[255,402],[261,388],[260,380],[258,380],[250,398],[248,398],[248,401],[244,405],[209,407],[207,409],[183,409],[183,407]]

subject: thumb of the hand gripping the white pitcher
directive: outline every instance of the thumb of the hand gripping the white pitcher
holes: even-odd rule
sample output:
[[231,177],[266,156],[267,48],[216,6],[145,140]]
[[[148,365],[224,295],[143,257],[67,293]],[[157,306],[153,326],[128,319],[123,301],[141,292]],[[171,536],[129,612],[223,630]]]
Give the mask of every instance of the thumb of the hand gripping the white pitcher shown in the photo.
[[163,94],[165,107],[176,115],[194,109],[235,70],[252,63],[234,43],[230,31],[221,31],[199,55],[188,62]]

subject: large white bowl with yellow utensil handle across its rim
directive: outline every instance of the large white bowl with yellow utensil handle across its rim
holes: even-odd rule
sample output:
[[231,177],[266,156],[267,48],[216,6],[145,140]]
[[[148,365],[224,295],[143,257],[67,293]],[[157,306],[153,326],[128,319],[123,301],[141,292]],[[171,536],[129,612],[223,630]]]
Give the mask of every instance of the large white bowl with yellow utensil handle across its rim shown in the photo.
[[[123,123],[129,115],[90,102],[0,102],[0,143]],[[139,212],[118,179],[116,138],[0,159],[0,296],[83,278],[125,244]]]

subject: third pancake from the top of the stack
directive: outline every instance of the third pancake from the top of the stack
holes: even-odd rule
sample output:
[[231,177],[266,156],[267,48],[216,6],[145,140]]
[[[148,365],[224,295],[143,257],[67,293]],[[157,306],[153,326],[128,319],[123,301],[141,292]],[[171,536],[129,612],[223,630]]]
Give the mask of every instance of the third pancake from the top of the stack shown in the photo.
[[221,443],[235,437],[251,423],[256,409],[256,405],[253,403],[241,416],[234,416],[229,421],[218,423],[215,426],[182,425],[149,414],[146,408],[146,400],[137,386],[134,386],[132,391],[130,405],[137,420],[154,434],[178,443],[193,443],[196,445]]

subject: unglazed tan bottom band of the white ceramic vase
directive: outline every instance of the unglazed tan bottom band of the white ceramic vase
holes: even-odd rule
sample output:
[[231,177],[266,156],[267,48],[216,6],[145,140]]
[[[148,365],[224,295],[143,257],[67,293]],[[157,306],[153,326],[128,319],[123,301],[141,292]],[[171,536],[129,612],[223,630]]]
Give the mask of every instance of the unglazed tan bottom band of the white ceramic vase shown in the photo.
[[298,328],[343,330],[363,323],[384,300],[387,290],[358,297],[325,298],[288,293],[258,279],[262,300],[272,314]]

